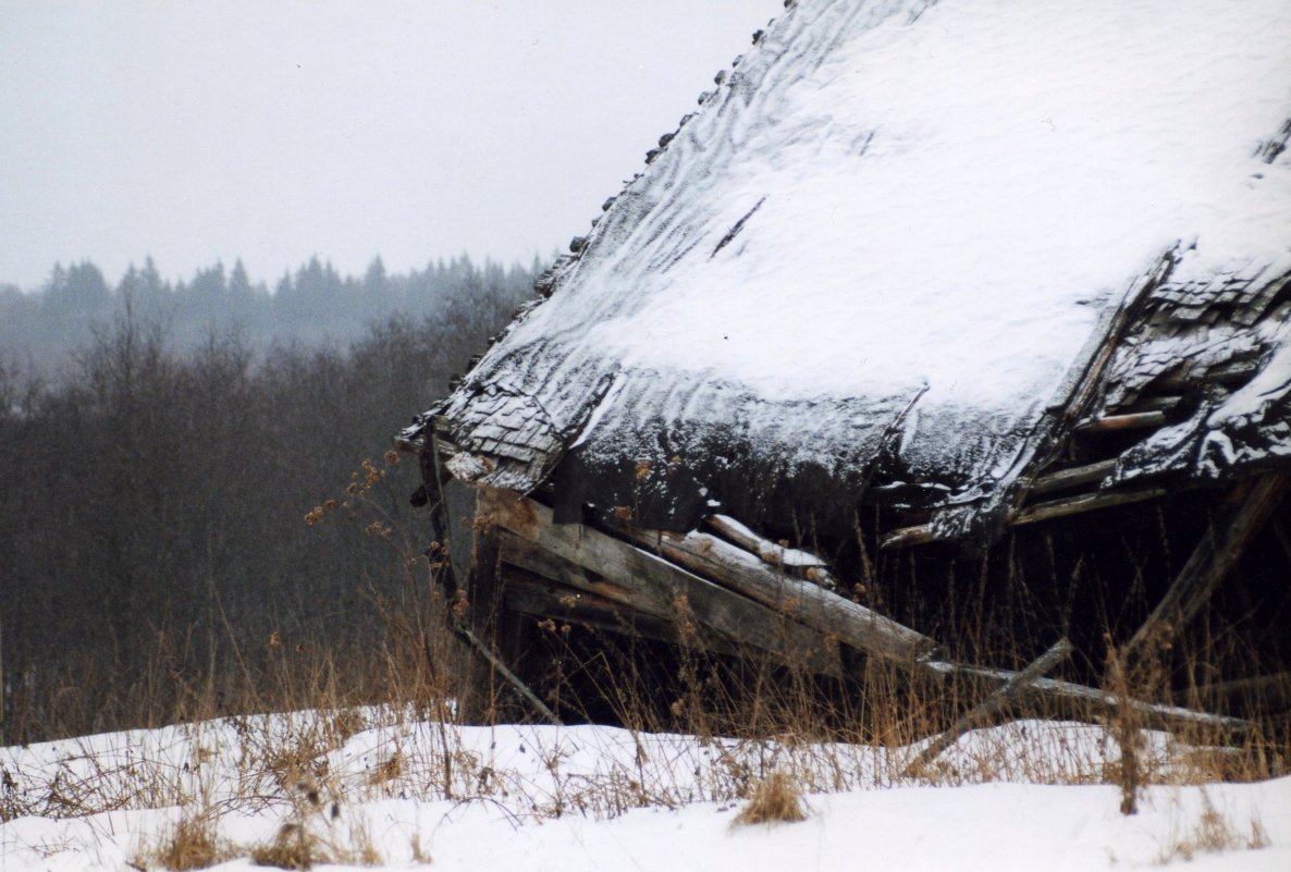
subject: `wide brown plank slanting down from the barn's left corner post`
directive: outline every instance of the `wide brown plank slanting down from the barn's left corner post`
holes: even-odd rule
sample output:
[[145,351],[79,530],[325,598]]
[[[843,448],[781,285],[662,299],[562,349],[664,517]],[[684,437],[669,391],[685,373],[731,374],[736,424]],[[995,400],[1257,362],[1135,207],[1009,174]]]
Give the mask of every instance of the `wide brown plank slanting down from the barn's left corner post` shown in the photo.
[[480,503],[493,523],[615,584],[633,588],[656,608],[669,611],[682,643],[702,643],[698,630],[706,628],[737,646],[777,654],[789,665],[817,674],[840,674],[837,646],[760,603],[599,530],[555,524],[549,508],[514,491],[482,487]]

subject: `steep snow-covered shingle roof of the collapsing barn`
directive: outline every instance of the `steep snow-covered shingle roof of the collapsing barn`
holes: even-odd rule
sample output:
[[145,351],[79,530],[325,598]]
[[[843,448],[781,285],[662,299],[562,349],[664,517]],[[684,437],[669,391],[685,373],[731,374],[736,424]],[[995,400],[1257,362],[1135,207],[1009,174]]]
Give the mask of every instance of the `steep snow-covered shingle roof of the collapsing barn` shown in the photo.
[[1285,0],[800,0],[426,420],[567,518],[963,514],[1239,351],[1109,481],[1285,459],[1288,45]]

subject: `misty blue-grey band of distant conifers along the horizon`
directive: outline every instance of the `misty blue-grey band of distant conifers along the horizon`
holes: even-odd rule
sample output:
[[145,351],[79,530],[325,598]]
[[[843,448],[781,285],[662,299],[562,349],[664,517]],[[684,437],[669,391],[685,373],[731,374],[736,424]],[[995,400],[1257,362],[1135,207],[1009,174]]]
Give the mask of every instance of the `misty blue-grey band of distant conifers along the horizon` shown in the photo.
[[54,381],[67,375],[74,354],[130,307],[141,323],[158,326],[174,349],[196,349],[212,337],[236,335],[249,349],[274,345],[341,345],[396,313],[440,318],[453,305],[485,293],[523,298],[542,269],[473,264],[460,256],[408,274],[390,274],[377,257],[361,278],[342,276],[314,257],[287,273],[272,291],[253,282],[239,260],[196,270],[187,282],[168,282],[152,258],[134,265],[114,287],[92,262],[57,265],[36,293],[0,284],[0,358]]

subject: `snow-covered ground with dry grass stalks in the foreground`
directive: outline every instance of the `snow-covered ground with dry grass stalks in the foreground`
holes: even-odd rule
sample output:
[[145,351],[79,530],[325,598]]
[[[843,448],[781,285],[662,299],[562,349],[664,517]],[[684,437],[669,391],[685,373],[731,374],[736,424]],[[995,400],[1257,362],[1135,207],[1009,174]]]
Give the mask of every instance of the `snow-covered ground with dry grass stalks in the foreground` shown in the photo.
[[[1101,783],[1115,743],[1075,723],[968,734],[932,783],[900,776],[918,745],[456,727],[376,711],[223,720],[0,749],[0,868],[155,867],[185,818],[212,822],[223,869],[256,868],[252,853],[284,827],[342,867],[1291,868],[1291,778],[1186,784],[1205,754],[1145,738],[1158,783],[1123,816],[1119,789]],[[740,797],[773,771],[802,785],[806,820],[735,824]]]

